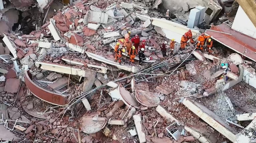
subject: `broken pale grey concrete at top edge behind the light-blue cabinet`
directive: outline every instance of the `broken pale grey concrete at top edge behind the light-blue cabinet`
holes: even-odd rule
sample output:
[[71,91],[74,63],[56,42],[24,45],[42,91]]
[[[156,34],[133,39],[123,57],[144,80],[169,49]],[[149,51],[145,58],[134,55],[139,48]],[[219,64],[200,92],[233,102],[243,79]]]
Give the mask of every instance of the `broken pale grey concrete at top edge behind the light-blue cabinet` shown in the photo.
[[206,19],[206,23],[209,23],[211,20],[215,19],[222,10],[222,7],[217,0],[163,0],[163,6],[166,9],[169,9],[173,14],[178,12],[182,12],[184,14],[198,5],[203,6],[206,9],[210,8],[213,10],[209,19]]

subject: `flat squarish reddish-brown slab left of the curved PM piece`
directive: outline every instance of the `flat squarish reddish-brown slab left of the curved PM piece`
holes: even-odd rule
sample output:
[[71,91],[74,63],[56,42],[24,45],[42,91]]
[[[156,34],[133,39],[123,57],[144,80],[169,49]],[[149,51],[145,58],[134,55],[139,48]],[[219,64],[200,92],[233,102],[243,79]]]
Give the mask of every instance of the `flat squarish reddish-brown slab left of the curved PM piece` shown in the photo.
[[20,84],[20,79],[9,78],[5,82],[4,91],[7,93],[17,93],[19,91]]

